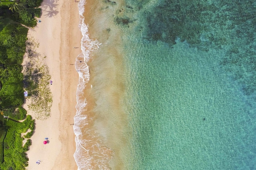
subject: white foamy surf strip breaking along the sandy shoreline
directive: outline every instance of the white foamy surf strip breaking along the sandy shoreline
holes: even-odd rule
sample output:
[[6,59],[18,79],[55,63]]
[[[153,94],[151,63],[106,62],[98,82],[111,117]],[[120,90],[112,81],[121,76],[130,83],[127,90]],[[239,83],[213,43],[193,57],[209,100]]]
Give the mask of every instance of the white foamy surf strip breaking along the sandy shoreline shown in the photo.
[[[76,58],[76,70],[79,74],[79,82],[76,90],[76,116],[74,117],[74,133],[76,135],[76,152],[74,158],[78,170],[91,169],[109,169],[106,162],[109,161],[109,154],[112,152],[108,147],[102,146],[98,136],[94,131],[88,128],[90,118],[86,116],[86,98],[84,89],[89,86],[90,80],[89,67],[87,62],[90,59],[90,52],[99,48],[98,41],[92,41],[88,34],[88,25],[84,23],[84,5],[85,0],[78,3],[80,23],[79,27],[82,32],[81,50],[82,53]],[[92,86],[90,87],[92,88]]]

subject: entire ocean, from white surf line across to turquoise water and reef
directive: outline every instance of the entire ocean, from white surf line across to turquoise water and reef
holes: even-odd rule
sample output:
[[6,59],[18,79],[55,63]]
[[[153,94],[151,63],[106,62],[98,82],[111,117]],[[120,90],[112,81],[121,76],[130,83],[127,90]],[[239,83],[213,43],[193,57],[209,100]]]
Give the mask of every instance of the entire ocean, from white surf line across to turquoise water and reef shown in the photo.
[[256,169],[255,1],[87,2],[78,169]]

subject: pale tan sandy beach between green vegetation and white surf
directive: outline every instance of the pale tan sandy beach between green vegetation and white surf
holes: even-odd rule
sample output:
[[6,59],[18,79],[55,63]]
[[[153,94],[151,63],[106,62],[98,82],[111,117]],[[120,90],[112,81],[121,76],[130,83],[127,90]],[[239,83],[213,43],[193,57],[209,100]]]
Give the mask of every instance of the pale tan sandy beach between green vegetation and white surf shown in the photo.
[[[80,50],[81,32],[78,27],[78,3],[70,1],[44,0],[42,16],[38,25],[28,31],[39,43],[36,52],[46,56],[44,62],[50,72],[53,84],[51,116],[46,120],[36,119],[36,128],[31,137],[32,145],[27,154],[28,170],[75,170],[76,150],[73,131],[74,115],[76,114],[76,88],[78,74],[74,67]],[[78,48],[74,48],[78,47]],[[24,62],[26,62],[26,57]],[[28,109],[29,99],[24,108]],[[33,117],[35,119],[35,117]],[[49,143],[44,145],[44,138]],[[40,164],[36,162],[40,160]]]

